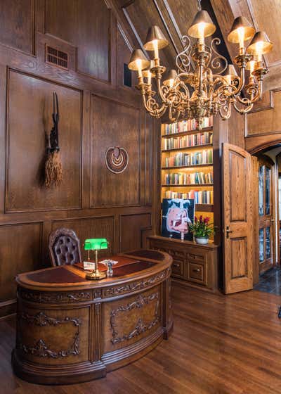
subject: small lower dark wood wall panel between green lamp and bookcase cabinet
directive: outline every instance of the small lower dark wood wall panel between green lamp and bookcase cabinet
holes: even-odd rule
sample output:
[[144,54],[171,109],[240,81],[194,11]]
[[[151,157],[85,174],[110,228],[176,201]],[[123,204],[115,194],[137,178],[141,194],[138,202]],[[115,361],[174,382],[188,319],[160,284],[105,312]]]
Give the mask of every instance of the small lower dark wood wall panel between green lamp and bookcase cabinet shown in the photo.
[[151,225],[150,213],[139,215],[121,215],[120,217],[120,252],[143,247],[142,229]]

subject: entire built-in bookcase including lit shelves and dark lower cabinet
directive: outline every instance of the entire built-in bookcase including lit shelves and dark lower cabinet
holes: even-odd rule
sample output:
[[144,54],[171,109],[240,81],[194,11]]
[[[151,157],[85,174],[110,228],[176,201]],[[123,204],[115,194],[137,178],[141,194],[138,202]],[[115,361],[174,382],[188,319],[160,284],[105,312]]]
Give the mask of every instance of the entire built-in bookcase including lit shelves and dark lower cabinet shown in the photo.
[[[195,215],[208,216],[213,223],[215,219],[215,225],[220,224],[219,131],[220,125],[216,125],[214,135],[212,119],[206,119],[200,131],[196,129],[195,121],[162,123],[158,142],[159,215],[156,234],[148,236],[149,248],[162,250],[173,257],[174,281],[213,292],[218,289],[217,235],[216,243],[211,239],[207,245],[201,246],[193,241],[159,236],[162,217],[162,204],[159,203],[163,198],[195,198]],[[215,205],[214,198],[218,201]]]

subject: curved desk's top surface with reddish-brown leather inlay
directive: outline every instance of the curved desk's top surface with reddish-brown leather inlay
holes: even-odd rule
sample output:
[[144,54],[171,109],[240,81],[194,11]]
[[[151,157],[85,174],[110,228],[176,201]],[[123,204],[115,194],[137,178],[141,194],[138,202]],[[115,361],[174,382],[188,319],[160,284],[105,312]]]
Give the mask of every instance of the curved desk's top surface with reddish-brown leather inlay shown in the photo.
[[[120,254],[112,256],[111,259],[118,261],[118,263],[113,266],[113,277],[100,281],[87,280],[86,271],[83,269],[82,263],[51,267],[19,274],[16,277],[16,281],[18,284],[28,287],[108,286],[115,281],[119,282],[126,279],[135,279],[140,275],[159,272],[171,265],[171,257],[166,253],[157,252],[156,250],[134,250],[126,255]],[[100,271],[106,271],[107,267],[103,264],[99,264],[98,269],[100,269]]]

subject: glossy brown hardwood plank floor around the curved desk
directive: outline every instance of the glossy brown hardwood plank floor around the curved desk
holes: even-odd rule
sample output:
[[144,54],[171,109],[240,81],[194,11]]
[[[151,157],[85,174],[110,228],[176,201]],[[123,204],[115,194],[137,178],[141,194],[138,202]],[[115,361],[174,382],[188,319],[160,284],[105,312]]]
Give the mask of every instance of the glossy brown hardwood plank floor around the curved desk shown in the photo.
[[281,393],[281,298],[261,291],[214,295],[173,286],[174,333],[105,379],[37,386],[11,369],[15,317],[0,321],[1,394]]

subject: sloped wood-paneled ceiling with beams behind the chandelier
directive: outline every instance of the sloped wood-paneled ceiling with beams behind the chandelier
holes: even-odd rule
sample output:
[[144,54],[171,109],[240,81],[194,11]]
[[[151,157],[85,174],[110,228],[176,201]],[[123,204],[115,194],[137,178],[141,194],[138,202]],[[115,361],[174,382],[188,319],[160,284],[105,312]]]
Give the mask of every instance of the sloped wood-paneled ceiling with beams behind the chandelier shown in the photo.
[[[176,54],[181,52],[181,36],[187,34],[197,12],[197,0],[116,0],[119,14],[129,23],[138,46],[143,46],[148,27],[158,25],[169,47],[162,51],[162,63],[174,68]],[[226,47],[233,58],[237,46],[226,37],[233,19],[244,15],[256,30],[265,30],[273,42],[273,51],[265,56],[270,73],[266,76],[266,90],[281,85],[281,0],[202,0],[202,8],[212,7],[223,34]]]

